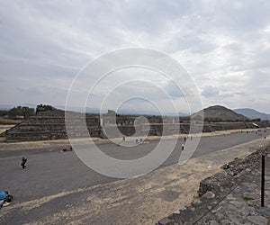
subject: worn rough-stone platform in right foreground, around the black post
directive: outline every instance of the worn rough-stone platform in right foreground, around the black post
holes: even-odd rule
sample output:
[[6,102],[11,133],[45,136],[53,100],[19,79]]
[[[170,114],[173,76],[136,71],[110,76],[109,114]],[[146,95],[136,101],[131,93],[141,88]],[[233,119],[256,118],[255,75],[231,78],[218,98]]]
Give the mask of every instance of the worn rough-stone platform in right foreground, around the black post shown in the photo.
[[[266,155],[265,207],[260,202],[262,155]],[[269,156],[268,144],[244,159],[235,158],[223,166],[225,171],[202,180],[201,197],[192,206],[168,218],[173,224],[270,224]]]

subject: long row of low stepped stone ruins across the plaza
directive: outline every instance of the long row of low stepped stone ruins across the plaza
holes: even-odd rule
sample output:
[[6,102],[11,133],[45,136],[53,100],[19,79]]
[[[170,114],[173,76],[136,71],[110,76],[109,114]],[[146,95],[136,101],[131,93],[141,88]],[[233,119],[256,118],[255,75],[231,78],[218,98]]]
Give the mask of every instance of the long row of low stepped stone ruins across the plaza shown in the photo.
[[[110,114],[111,113],[111,114]],[[116,138],[121,136],[138,136],[148,134],[149,136],[173,135],[177,133],[189,133],[190,124],[178,121],[178,118],[149,117],[148,120],[138,116],[116,116],[112,112],[105,114],[102,118],[98,114],[84,114],[80,112],[68,112],[71,119],[70,124],[65,123],[65,112],[60,110],[38,112],[26,121],[17,124],[10,130],[6,130],[1,136],[6,141],[31,141],[45,139],[67,139],[66,125],[72,126],[72,137],[86,138],[98,137],[107,138],[107,133],[112,129],[117,129]],[[80,126],[80,122],[85,120],[88,133]],[[269,123],[264,126],[269,126]],[[214,131],[229,129],[252,128],[252,122],[216,122],[196,124],[193,132],[197,130]],[[112,136],[112,135],[111,135]]]

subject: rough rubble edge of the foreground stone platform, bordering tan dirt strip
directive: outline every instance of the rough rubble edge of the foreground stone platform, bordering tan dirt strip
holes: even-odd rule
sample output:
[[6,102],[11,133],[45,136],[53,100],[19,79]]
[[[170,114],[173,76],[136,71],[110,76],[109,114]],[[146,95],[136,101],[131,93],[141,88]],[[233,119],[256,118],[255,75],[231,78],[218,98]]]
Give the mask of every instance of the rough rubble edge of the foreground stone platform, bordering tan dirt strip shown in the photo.
[[221,166],[224,171],[209,176],[200,182],[198,197],[190,205],[173,212],[168,217],[157,221],[156,225],[198,224],[204,216],[214,210],[247,175],[260,166],[261,157],[270,157],[270,143],[257,148],[245,158],[236,157],[233,161]]

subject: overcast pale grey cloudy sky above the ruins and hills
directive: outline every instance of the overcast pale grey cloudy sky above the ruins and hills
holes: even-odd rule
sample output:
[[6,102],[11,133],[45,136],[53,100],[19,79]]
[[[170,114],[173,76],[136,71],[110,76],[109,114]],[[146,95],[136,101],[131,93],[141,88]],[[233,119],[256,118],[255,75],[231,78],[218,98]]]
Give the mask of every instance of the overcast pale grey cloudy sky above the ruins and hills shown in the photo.
[[[203,107],[270,113],[269,12],[267,0],[0,1],[0,104],[65,105],[68,88],[87,63],[113,50],[139,47],[175,58],[192,76]],[[116,88],[109,107],[114,100],[119,104],[121,92],[150,92],[153,101],[166,105],[164,94],[158,95],[161,88],[186,111],[183,93],[157,73],[130,68],[119,74],[96,92],[108,94],[108,86],[117,85],[115,77],[121,82],[136,77],[137,83]],[[148,85],[139,79],[148,79]],[[100,98],[87,106],[103,101],[104,95],[94,96]],[[126,102],[121,105],[129,108]],[[131,102],[149,110],[155,104]]]

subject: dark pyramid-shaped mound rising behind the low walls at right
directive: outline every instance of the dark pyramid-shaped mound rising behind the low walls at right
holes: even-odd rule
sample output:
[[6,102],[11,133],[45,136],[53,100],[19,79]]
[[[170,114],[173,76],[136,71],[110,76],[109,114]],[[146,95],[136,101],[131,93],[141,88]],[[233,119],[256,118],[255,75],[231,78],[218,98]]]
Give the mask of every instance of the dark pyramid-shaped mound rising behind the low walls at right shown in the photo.
[[[192,116],[199,115],[202,111],[193,113]],[[221,106],[214,105],[203,109],[204,121],[245,121],[248,118],[237,112]]]

